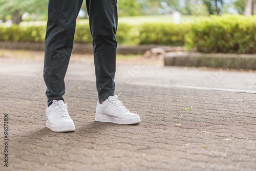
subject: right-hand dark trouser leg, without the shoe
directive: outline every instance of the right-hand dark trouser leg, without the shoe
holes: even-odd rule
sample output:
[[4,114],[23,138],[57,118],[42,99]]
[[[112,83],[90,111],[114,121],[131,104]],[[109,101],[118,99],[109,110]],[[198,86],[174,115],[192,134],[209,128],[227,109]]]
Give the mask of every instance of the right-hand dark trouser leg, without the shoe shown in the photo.
[[87,0],[93,37],[96,87],[99,101],[114,96],[116,72],[117,1]]

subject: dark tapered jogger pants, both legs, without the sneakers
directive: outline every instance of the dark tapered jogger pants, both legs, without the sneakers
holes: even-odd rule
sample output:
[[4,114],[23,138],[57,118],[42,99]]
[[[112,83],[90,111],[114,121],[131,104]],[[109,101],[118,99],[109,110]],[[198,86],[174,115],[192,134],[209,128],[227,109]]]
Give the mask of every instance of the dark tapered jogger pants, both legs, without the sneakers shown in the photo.
[[[48,105],[63,100],[66,75],[82,0],[49,0],[45,39],[44,79]],[[86,0],[93,37],[96,87],[99,101],[114,95],[116,72],[116,0]]]

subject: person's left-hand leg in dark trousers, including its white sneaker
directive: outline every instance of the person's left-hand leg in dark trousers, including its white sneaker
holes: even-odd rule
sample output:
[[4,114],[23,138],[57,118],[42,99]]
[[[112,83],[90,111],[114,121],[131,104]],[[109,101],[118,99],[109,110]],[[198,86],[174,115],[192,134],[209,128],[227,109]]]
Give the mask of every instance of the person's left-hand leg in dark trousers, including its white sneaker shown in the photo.
[[45,39],[44,79],[48,107],[46,126],[54,132],[75,131],[75,124],[63,101],[66,75],[82,0],[49,0]]

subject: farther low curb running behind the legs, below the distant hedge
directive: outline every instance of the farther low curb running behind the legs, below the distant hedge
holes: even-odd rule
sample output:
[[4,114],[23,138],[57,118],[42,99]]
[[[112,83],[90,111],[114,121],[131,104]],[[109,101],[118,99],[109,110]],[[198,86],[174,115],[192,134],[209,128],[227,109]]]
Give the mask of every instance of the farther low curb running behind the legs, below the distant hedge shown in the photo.
[[[139,45],[139,46],[125,46],[118,45],[118,54],[144,54],[147,50],[152,48],[162,47],[159,45]],[[33,51],[44,51],[44,42],[10,42],[10,41],[0,41],[1,49],[13,49],[13,50],[33,50]],[[74,44],[73,53],[93,53],[92,44]]]

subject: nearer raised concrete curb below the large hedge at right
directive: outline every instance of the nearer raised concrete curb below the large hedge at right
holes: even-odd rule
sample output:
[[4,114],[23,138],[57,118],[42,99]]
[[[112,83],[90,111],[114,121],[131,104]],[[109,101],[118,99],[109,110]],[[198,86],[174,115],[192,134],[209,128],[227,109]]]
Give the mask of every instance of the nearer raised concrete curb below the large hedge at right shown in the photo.
[[164,55],[164,66],[256,70],[256,54],[169,52]]

